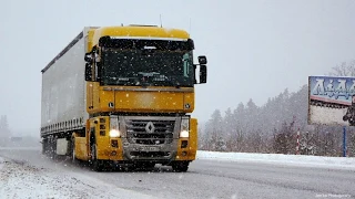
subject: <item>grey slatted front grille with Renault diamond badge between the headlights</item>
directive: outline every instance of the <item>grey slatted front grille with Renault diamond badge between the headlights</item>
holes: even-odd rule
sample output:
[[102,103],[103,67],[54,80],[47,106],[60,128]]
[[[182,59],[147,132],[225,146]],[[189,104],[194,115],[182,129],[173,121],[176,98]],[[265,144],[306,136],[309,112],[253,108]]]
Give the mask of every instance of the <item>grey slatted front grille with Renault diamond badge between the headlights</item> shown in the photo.
[[126,138],[131,144],[162,145],[173,142],[175,121],[125,121]]

